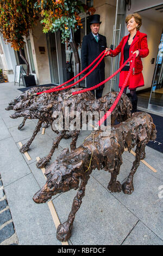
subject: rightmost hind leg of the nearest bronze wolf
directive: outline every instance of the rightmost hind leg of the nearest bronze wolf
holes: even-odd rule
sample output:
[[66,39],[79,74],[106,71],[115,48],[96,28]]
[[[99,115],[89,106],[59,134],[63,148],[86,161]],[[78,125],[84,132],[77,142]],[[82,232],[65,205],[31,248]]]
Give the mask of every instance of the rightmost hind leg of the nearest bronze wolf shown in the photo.
[[136,150],[135,150],[136,156],[135,156],[135,161],[133,162],[133,167],[131,168],[131,172],[127,178],[127,181],[124,182],[122,185],[122,190],[124,194],[131,194],[134,191],[133,178],[137,170],[137,167],[139,167],[140,165],[140,160],[145,158],[145,147],[146,147],[146,144],[144,143],[140,145],[140,147],[138,145],[136,147]]

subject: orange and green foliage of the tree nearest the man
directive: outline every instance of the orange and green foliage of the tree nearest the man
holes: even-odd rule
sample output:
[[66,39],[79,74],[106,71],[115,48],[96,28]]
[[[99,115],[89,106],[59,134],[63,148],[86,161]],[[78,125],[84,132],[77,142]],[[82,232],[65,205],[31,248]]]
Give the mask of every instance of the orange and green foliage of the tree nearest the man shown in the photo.
[[37,1],[35,8],[41,10],[43,19],[43,32],[47,33],[61,31],[62,42],[70,38],[70,28],[76,32],[77,29],[83,28],[80,13],[95,13],[94,8],[87,10],[82,1],[70,0],[52,0]]

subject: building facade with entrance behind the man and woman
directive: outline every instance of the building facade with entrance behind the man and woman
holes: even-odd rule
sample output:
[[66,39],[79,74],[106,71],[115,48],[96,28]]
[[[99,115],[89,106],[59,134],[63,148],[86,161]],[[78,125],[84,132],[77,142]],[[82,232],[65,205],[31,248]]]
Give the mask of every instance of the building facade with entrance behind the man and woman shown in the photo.
[[[117,47],[124,35],[128,34],[125,18],[128,14],[139,13],[142,16],[140,32],[147,34],[149,55],[142,59],[145,87],[137,89],[140,95],[140,107],[153,109],[163,113],[163,86],[162,86],[162,44],[163,44],[163,2],[159,0],[83,0],[83,3],[96,9],[101,15],[99,33],[106,36],[107,45]],[[78,46],[79,56],[83,36],[90,32],[89,17],[81,14],[83,29],[74,34]],[[62,44],[60,32],[42,33],[40,22],[29,32],[25,39],[24,54],[29,62],[30,74],[35,76],[37,84],[61,84],[76,75],[76,63],[70,45]],[[1,38],[1,59],[4,73],[8,81],[15,79],[15,66],[23,64],[19,53],[5,45]],[[119,68],[119,56],[105,58],[105,78]],[[112,90],[118,91],[119,75],[105,84],[103,94]],[[85,87],[85,81],[80,83]]]

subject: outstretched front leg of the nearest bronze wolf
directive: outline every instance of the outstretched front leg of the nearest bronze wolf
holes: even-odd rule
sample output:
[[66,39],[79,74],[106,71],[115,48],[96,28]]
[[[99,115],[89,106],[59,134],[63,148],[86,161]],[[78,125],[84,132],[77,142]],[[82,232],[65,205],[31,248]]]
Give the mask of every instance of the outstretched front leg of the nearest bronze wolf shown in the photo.
[[67,221],[65,221],[63,224],[60,224],[57,228],[57,239],[60,240],[61,242],[67,241],[71,236],[73,221],[76,212],[79,210],[80,205],[82,204],[82,198],[85,195],[85,186],[88,180],[89,176],[87,177],[87,180],[82,181],[78,193],[73,199],[72,209],[70,214],[68,215]]

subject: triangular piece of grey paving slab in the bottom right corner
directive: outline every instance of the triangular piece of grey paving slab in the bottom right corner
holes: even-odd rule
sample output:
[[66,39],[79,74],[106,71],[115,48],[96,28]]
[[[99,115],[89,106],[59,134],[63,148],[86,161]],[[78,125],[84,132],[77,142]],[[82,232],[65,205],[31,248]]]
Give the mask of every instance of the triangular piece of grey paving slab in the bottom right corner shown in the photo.
[[122,245],[163,245],[163,241],[139,221]]

